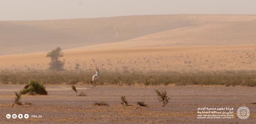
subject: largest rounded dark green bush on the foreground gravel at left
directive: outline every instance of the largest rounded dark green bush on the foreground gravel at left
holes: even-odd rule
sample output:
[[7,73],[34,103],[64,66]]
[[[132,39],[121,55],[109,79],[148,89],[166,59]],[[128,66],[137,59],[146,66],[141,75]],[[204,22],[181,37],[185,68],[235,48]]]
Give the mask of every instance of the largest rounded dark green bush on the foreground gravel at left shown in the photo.
[[47,95],[47,91],[42,83],[30,80],[27,85],[25,85],[23,90],[20,90],[20,94],[29,93],[31,95]]

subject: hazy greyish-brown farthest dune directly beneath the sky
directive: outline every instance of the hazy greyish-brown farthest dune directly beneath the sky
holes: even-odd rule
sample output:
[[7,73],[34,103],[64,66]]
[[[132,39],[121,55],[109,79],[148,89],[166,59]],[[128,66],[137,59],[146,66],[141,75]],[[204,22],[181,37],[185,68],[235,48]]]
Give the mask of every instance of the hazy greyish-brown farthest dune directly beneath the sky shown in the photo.
[[205,23],[255,20],[255,15],[145,15],[93,19],[0,21],[0,55],[49,51],[56,46],[121,42]]

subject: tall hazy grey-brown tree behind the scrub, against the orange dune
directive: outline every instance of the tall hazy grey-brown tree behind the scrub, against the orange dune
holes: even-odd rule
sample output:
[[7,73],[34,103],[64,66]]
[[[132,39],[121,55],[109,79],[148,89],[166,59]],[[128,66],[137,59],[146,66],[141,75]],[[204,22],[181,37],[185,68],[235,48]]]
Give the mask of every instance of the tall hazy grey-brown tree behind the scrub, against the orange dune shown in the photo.
[[49,63],[49,70],[61,71],[64,70],[64,62],[59,60],[60,57],[63,57],[63,53],[61,52],[61,48],[57,47],[51,52],[48,52],[46,57],[51,58],[51,62]]

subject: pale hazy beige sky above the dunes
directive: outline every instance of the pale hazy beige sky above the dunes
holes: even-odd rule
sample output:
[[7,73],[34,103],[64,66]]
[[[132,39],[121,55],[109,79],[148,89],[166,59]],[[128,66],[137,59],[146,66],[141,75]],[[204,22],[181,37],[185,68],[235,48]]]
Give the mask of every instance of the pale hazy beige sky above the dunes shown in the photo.
[[0,0],[0,20],[145,14],[256,14],[256,0]]

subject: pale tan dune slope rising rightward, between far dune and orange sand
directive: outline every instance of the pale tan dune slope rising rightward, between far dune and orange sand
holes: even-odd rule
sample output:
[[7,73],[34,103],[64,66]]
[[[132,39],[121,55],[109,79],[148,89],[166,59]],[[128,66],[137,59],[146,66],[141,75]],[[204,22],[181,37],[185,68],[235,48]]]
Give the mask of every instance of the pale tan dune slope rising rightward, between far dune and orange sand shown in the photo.
[[256,43],[256,21],[225,22],[177,28],[130,39],[76,49],[113,49],[178,45],[245,45]]

